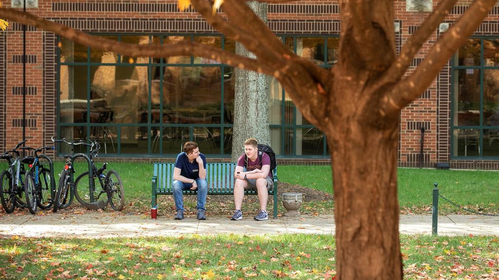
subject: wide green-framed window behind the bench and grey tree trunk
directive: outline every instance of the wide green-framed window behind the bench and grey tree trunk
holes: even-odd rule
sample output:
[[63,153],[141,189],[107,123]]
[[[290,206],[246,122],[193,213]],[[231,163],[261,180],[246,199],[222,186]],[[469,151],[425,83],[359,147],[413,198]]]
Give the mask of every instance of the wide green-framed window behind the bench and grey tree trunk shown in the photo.
[[[100,36],[156,45],[193,40],[235,51],[235,42],[221,35]],[[285,36],[282,40],[321,67],[336,63],[338,37]],[[59,46],[59,136],[98,140],[101,154],[111,156],[174,156],[187,140],[198,142],[207,155],[230,156],[233,67],[195,56],[122,56],[64,38]],[[327,156],[324,135],[301,116],[273,79],[269,121],[271,145],[278,155]]]

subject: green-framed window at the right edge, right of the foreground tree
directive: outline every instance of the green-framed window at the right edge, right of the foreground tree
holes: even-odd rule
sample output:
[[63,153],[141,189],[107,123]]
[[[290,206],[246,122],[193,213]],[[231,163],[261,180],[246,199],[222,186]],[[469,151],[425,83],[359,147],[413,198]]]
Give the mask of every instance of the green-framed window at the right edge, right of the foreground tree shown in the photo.
[[499,157],[499,39],[472,37],[452,60],[452,156]]

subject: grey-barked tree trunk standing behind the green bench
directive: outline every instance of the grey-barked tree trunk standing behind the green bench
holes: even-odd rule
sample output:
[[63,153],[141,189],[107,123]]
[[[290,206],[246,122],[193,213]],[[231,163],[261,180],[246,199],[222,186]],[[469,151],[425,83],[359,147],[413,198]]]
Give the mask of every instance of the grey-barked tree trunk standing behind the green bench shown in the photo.
[[[250,8],[267,22],[267,3],[248,2]],[[236,54],[255,58],[241,43],[236,43]],[[235,70],[236,96],[234,98],[234,130],[231,160],[236,162],[244,152],[244,142],[254,137],[259,143],[270,144],[268,127],[269,77],[252,71]]]

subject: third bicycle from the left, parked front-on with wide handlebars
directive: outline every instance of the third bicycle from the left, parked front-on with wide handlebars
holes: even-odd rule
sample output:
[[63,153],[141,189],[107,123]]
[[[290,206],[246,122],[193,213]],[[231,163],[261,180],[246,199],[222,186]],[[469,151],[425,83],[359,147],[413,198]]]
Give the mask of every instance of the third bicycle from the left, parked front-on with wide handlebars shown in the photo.
[[[54,198],[54,203],[53,203],[53,208],[52,211],[54,213],[57,212],[58,209],[64,209],[71,205],[73,202],[73,197],[74,197],[74,168],[73,168],[73,161],[76,157],[78,156],[84,156],[87,157],[85,154],[82,153],[77,153],[73,155],[73,150],[75,145],[86,145],[89,147],[93,147],[93,144],[88,144],[85,143],[83,140],[78,140],[76,142],[69,142],[67,139],[64,137],[60,140],[55,140],[55,137],[52,137],[52,142],[54,143],[59,143],[59,142],[65,142],[68,145],[71,146],[71,151],[69,154],[64,155],[64,159],[66,160],[66,164],[64,165],[64,168],[62,169],[62,172],[59,174],[59,182],[57,184],[57,191],[55,193],[55,198]],[[68,199],[69,196],[69,199]]]

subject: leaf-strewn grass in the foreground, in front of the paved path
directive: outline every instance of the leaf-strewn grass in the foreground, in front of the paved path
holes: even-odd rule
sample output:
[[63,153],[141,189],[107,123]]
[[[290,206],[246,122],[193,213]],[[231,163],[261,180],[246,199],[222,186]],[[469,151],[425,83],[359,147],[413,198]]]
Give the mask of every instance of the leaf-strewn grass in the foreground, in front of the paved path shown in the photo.
[[[497,237],[401,236],[405,279],[496,279]],[[5,279],[331,279],[328,235],[0,239]],[[360,264],[367,265],[367,264]]]

